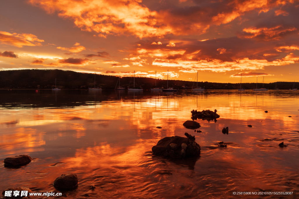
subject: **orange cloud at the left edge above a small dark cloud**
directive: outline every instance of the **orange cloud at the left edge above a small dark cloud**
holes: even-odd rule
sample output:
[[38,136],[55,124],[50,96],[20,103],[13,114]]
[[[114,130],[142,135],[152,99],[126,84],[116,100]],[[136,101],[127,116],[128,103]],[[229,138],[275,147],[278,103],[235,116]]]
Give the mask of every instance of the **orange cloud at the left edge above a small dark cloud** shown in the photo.
[[28,33],[8,33],[0,31],[0,42],[22,48],[23,46],[42,46],[40,42],[44,40],[38,39],[37,36]]

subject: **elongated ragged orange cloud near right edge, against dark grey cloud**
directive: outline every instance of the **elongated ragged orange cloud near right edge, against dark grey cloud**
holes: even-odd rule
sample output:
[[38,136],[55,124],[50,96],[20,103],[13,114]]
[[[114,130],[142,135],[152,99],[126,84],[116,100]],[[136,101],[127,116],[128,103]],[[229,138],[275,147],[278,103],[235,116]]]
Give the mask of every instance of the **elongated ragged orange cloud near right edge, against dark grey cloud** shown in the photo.
[[275,26],[272,28],[244,28],[243,32],[245,32],[245,34],[243,34],[241,37],[244,38],[255,38],[255,37],[260,37],[263,40],[271,40],[271,39],[280,39],[284,34],[286,33],[290,33],[297,30],[297,28],[295,27],[289,27],[289,28],[284,28],[283,26],[279,25],[279,26]]

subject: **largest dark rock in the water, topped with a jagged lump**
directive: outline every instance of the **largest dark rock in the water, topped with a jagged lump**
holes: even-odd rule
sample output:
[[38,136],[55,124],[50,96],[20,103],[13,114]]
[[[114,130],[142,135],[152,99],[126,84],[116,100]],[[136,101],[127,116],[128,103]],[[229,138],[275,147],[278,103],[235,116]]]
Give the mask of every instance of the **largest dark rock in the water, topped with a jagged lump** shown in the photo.
[[195,136],[185,133],[187,138],[180,136],[165,137],[152,147],[154,155],[169,158],[196,157],[200,155],[200,146],[195,142]]

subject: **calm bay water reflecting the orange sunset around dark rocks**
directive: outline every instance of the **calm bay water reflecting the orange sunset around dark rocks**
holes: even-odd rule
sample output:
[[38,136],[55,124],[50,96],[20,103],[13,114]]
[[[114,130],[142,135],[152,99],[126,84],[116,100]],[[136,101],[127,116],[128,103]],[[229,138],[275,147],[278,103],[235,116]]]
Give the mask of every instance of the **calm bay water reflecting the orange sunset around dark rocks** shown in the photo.
[[[258,198],[230,195],[254,190],[299,194],[298,98],[295,91],[0,90],[0,190],[57,192],[53,181],[74,173],[79,184],[68,198]],[[197,133],[182,125],[192,109],[217,109],[220,118],[197,120],[202,131]],[[185,137],[185,132],[195,135],[200,158],[152,155],[160,139]],[[219,141],[227,148],[219,148]],[[282,141],[288,146],[280,148]],[[19,169],[4,167],[5,158],[20,154],[36,159]]]

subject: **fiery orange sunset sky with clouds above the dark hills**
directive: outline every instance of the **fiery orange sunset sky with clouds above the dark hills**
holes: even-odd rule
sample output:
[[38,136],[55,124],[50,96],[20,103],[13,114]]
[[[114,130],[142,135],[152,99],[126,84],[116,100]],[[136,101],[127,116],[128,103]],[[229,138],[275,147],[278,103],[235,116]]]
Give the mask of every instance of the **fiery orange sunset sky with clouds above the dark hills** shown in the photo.
[[269,83],[298,62],[298,0],[0,1],[0,70]]

